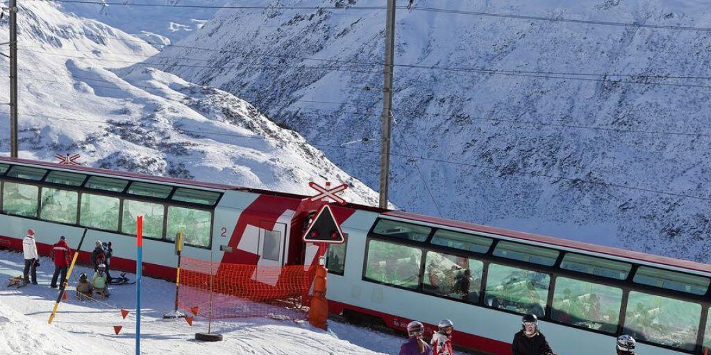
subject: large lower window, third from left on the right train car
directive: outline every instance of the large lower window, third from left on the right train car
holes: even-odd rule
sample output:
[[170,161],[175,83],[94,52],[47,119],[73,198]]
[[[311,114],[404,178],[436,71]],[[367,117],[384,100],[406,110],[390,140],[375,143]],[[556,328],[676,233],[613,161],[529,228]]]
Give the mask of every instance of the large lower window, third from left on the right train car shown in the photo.
[[550,275],[497,264],[486,274],[486,304],[520,314],[545,315]]

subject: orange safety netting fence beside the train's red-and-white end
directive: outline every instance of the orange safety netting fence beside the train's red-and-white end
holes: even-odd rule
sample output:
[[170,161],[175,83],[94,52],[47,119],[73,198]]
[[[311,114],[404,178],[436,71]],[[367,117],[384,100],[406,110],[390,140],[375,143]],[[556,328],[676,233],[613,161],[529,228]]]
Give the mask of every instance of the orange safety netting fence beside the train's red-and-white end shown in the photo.
[[178,305],[213,319],[305,319],[314,266],[256,266],[181,259]]

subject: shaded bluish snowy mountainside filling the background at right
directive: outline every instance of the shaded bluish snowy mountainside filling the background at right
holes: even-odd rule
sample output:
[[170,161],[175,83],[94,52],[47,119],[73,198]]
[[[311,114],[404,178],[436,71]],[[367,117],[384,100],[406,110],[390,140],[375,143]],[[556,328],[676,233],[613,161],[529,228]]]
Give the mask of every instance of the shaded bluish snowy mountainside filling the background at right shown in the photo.
[[[252,102],[315,146],[379,138],[380,92],[362,88],[382,87],[385,11],[348,6],[384,2],[252,2],[340,9],[223,9],[180,42],[196,49],[168,47],[160,61]],[[415,6],[711,27],[707,4],[695,0]],[[480,71],[395,69],[392,202],[667,256],[711,256],[708,136],[657,133],[711,133],[708,32],[400,9],[396,35],[398,64]],[[369,141],[324,152],[377,188],[378,148]]]

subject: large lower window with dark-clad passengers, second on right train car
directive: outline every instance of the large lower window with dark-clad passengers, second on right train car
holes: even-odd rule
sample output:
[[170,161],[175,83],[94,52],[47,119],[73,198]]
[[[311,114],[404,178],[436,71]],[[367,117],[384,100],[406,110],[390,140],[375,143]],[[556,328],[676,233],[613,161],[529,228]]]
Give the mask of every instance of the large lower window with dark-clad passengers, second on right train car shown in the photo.
[[484,263],[444,253],[427,252],[424,262],[424,291],[455,300],[479,302]]

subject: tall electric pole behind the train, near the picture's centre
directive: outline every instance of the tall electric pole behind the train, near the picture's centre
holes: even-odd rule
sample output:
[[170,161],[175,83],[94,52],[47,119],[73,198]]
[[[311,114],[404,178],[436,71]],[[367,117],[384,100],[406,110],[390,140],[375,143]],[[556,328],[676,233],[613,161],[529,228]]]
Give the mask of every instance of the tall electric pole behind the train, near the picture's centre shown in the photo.
[[387,0],[385,24],[385,65],[383,67],[383,124],[380,128],[380,208],[387,208],[387,185],[390,178],[390,119],[392,117],[392,62],[395,51],[395,1]]

